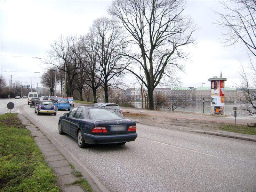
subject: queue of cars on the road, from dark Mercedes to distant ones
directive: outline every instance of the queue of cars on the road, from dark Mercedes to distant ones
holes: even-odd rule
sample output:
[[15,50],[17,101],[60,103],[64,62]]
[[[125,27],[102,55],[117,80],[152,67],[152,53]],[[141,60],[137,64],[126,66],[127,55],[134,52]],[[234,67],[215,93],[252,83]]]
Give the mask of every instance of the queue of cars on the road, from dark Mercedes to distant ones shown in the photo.
[[[34,93],[32,93],[34,94]],[[70,108],[68,100],[48,97],[29,97],[35,113],[57,115],[57,110],[68,110],[59,117],[59,134],[68,134],[76,139],[78,147],[92,144],[125,144],[137,138],[136,122],[124,118],[123,110],[115,103],[96,103],[92,106]],[[55,99],[55,101],[53,100]]]

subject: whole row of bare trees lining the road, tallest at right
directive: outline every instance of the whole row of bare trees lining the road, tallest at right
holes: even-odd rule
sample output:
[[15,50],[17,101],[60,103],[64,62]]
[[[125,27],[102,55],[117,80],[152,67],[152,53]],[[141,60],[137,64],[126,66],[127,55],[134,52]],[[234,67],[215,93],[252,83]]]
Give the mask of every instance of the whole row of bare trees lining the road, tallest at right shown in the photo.
[[68,97],[77,90],[83,100],[87,88],[97,102],[102,87],[108,102],[109,87],[123,87],[124,74],[131,73],[147,88],[147,108],[154,109],[154,89],[180,83],[176,72],[184,70],[180,60],[188,56],[182,47],[194,43],[196,27],[183,15],[184,5],[182,0],[114,0],[110,18],[95,20],[83,36],[61,35],[51,44],[42,84],[53,92],[57,72]]

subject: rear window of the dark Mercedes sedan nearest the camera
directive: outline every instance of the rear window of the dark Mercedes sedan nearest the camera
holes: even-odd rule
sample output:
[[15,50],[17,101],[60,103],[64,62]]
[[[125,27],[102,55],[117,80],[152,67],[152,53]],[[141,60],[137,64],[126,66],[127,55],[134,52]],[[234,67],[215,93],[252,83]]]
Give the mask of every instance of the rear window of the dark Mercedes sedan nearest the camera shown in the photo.
[[91,119],[124,119],[124,117],[114,109],[91,108],[88,109]]

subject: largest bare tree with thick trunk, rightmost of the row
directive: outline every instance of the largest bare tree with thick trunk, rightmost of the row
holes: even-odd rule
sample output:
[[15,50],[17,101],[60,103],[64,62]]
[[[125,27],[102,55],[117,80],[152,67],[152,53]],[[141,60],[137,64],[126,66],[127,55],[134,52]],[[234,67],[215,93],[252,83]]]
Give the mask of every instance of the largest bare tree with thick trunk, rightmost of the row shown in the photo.
[[[154,89],[160,83],[179,84],[177,70],[183,71],[181,47],[193,43],[195,30],[189,17],[183,17],[182,0],[114,0],[108,12],[123,26],[133,51],[125,56],[143,69],[127,69],[148,89],[149,109],[154,109]],[[162,80],[162,81],[161,81]]]

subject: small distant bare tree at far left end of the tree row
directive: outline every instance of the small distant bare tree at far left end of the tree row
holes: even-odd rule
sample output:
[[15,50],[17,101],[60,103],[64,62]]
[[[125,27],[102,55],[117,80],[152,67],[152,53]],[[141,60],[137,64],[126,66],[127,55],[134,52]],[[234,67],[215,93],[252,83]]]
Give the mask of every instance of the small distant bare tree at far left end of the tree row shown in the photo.
[[[53,96],[54,86],[55,86],[55,69],[50,68],[41,77],[41,84],[50,89],[50,94]],[[57,80],[58,81],[58,80]]]

